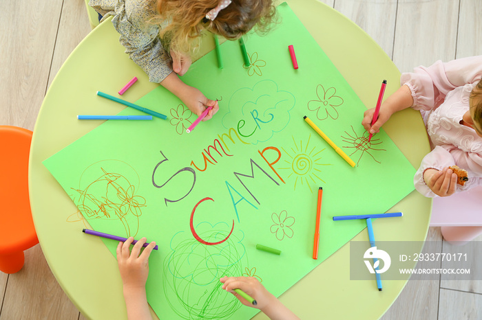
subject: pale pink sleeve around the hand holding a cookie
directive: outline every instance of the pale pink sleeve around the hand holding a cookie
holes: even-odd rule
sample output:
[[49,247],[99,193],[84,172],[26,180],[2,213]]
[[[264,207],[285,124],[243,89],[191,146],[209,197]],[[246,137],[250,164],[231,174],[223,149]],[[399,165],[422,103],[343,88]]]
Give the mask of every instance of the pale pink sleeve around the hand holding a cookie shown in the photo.
[[413,177],[415,189],[423,196],[434,198],[437,195],[430,190],[423,180],[423,172],[427,169],[443,170],[451,165],[458,165],[460,168],[469,171],[469,181],[465,185],[457,185],[455,192],[469,190],[476,185],[482,184],[481,177],[472,176],[471,172],[482,172],[482,158],[476,153],[467,153],[454,146],[436,146],[428,155],[423,157],[420,168]]

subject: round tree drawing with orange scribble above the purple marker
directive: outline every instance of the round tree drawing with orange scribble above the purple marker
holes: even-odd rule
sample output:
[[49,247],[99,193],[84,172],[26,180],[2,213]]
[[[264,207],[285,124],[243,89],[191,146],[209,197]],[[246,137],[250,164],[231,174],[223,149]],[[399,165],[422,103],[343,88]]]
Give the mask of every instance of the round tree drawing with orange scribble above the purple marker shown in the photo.
[[[123,174],[107,168],[116,168],[117,172]],[[125,236],[134,237],[139,229],[141,207],[146,206],[146,201],[136,195],[136,186],[131,183],[133,180],[138,185],[139,176],[127,163],[99,161],[84,170],[78,189],[72,188],[79,195],[74,203],[85,219],[119,221],[125,229]]]

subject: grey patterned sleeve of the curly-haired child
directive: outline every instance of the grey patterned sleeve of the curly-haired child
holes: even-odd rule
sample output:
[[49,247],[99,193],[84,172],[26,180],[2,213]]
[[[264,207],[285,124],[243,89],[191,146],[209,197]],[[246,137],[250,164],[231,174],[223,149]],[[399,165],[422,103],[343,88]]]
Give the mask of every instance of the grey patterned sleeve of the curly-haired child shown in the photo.
[[160,40],[160,27],[149,23],[154,13],[149,1],[90,0],[89,5],[103,14],[103,20],[113,16],[125,53],[147,73],[150,82],[159,83],[169,76],[171,57]]

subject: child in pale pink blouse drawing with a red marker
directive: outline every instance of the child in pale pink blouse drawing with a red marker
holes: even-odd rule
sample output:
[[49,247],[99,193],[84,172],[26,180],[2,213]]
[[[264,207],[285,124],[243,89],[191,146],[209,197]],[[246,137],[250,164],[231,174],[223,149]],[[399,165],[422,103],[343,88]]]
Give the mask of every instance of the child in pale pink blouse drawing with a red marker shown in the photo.
[[[432,146],[414,177],[423,196],[450,196],[482,185],[481,77],[482,56],[420,66],[401,75],[402,86],[381,104],[373,126],[374,108],[364,113],[364,128],[377,133],[393,113],[408,107],[421,111]],[[466,170],[467,177],[452,169]]]

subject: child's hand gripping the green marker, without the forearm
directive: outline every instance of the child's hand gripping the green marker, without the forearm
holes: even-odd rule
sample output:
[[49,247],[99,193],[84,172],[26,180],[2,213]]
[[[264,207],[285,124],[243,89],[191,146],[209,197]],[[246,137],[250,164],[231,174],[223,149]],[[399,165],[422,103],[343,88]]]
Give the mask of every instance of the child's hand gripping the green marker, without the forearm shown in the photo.
[[[220,282],[223,283],[222,288],[232,293],[244,306],[263,309],[273,301],[277,300],[275,296],[271,295],[266,288],[255,277],[222,277]],[[251,302],[247,301],[243,297],[240,297],[238,293],[233,291],[234,289],[241,289],[258,302],[255,306]]]

